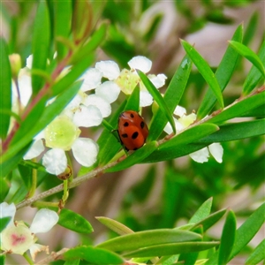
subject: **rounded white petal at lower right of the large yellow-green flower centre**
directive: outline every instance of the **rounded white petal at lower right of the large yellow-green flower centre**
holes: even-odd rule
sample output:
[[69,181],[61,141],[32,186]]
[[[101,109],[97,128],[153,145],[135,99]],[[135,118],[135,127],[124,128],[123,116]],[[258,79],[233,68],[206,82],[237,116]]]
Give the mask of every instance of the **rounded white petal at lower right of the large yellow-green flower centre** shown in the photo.
[[79,138],[72,145],[72,154],[81,165],[92,166],[98,154],[98,145],[89,138]]

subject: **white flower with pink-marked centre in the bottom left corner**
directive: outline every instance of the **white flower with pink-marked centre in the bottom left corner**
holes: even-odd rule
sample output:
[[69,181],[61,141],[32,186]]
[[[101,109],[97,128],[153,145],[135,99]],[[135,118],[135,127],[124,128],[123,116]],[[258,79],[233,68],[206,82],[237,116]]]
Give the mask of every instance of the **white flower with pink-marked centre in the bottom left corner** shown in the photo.
[[9,254],[20,255],[30,250],[33,260],[37,252],[48,252],[48,246],[35,244],[37,241],[35,234],[49,231],[58,222],[57,213],[46,208],[40,209],[29,228],[22,221],[13,222],[15,213],[16,207],[13,203],[0,204],[0,218],[11,216],[11,221],[1,232],[1,249]]

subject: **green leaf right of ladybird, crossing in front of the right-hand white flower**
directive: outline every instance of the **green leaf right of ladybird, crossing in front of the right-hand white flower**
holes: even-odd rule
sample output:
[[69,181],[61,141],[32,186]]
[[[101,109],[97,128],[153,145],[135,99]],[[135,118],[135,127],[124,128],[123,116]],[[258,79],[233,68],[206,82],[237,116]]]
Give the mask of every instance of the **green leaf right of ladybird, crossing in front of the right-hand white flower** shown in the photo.
[[158,149],[170,150],[181,145],[185,145],[194,141],[200,140],[202,137],[210,133],[214,133],[219,130],[217,125],[213,124],[201,124],[188,128],[183,133],[179,133],[177,136],[164,142]]

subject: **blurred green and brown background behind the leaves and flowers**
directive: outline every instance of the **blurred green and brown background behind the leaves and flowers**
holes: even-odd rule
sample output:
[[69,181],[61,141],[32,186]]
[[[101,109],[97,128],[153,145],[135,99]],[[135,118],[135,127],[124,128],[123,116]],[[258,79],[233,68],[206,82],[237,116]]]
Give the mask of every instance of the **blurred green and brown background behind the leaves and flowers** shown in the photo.
[[[23,65],[31,54],[37,3],[1,2],[1,34],[9,44],[10,53],[21,55]],[[194,44],[215,69],[223,57],[227,41],[240,23],[244,23],[244,43],[254,51],[259,49],[264,37],[263,1],[92,1],[92,6],[95,9],[95,27],[103,19],[110,23],[107,39],[96,51],[95,62],[112,59],[124,68],[128,67],[127,62],[132,57],[142,55],[152,60],[151,73],[164,73],[168,77],[167,82],[185,54],[179,39]],[[250,67],[245,59],[239,60],[237,71],[224,92],[225,105],[239,98]],[[180,105],[188,113],[198,110],[206,88],[201,74],[193,68]],[[151,110],[144,112],[150,120]],[[100,132],[101,128],[94,128],[83,133],[97,140]],[[171,228],[185,223],[209,197],[214,198],[213,210],[232,208],[239,225],[264,201],[264,136],[222,145],[221,164],[212,157],[208,163],[200,164],[186,156],[105,174],[73,189],[66,208],[85,216],[95,229],[89,238],[86,236],[81,240],[99,242],[110,236],[95,216],[114,218],[133,231]],[[19,178],[19,171],[14,179],[17,186],[25,185]],[[58,184],[59,180],[51,181],[49,178],[41,189]],[[13,189],[15,191],[15,187]],[[21,216],[28,214],[31,213],[23,212],[23,209],[19,211]],[[79,242],[79,235],[72,231],[60,227],[55,233],[49,234],[53,239],[51,249],[74,246]],[[213,239],[220,237],[220,233],[218,227],[209,231]],[[254,238],[253,246],[262,237],[264,227]]]

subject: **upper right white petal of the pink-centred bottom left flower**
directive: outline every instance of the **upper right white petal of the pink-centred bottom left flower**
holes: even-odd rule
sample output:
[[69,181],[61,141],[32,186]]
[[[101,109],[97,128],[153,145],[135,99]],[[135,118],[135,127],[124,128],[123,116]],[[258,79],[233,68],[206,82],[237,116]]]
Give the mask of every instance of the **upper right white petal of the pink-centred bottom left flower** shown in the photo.
[[34,234],[45,233],[57,224],[58,220],[59,216],[57,215],[57,212],[48,208],[41,208],[34,216],[34,220],[29,229]]

